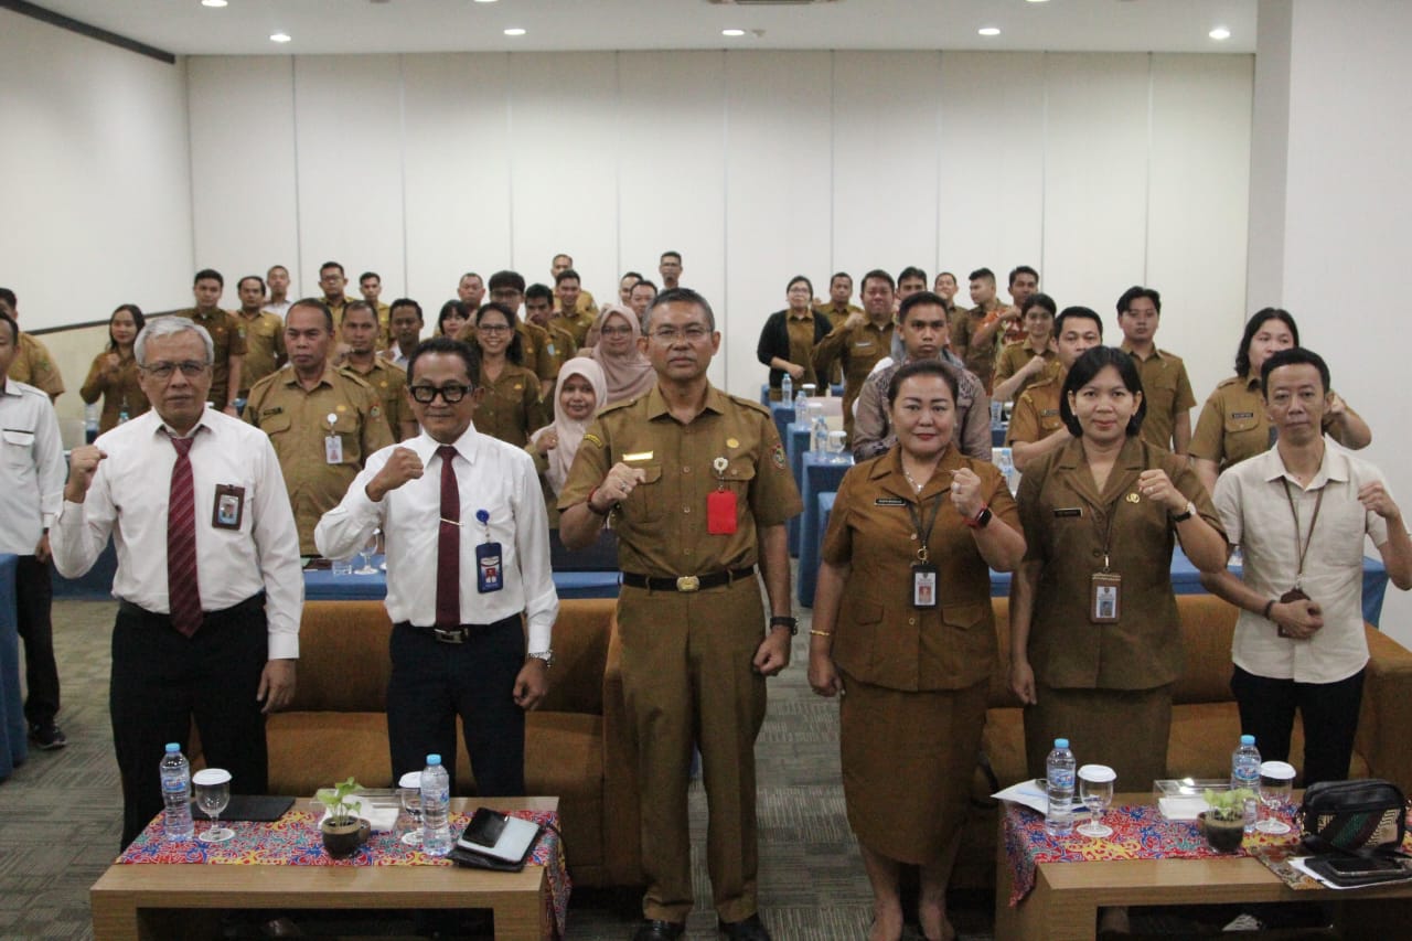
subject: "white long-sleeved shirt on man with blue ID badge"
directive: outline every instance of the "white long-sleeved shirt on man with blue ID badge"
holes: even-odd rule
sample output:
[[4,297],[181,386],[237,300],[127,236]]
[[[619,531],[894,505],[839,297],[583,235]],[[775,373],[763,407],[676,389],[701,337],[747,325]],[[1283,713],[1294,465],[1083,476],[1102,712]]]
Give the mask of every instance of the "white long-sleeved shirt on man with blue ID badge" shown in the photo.
[[[441,533],[441,445],[426,432],[400,445],[383,448],[367,459],[343,502],[323,514],[313,530],[319,552],[346,558],[374,528],[387,544],[387,613],[393,623],[417,627],[436,623],[436,544]],[[453,445],[460,495],[460,623],[490,625],[524,612],[530,625],[530,651],[549,650],[549,634],[559,615],[559,593],[549,568],[549,520],[534,458],[503,441],[483,435],[474,425]],[[397,448],[409,448],[422,461],[417,480],[385,493],[378,503],[367,497],[367,485]],[[490,541],[500,543],[504,588],[480,593],[476,588],[476,547],[487,541],[476,511],[490,514]]]

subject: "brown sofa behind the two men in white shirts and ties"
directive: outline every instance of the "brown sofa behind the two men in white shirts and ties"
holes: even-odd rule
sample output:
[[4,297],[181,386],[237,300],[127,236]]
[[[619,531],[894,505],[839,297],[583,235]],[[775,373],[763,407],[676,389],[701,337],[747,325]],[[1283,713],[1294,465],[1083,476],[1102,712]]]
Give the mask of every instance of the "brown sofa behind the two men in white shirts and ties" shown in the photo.
[[[642,880],[614,608],[614,599],[561,602],[552,684],[525,730],[525,786],[559,797],[569,872],[582,886]],[[267,725],[273,794],[312,794],[349,774],[367,787],[393,786],[391,630],[381,602],[305,603],[295,698]],[[474,794],[463,745],[456,781]]]

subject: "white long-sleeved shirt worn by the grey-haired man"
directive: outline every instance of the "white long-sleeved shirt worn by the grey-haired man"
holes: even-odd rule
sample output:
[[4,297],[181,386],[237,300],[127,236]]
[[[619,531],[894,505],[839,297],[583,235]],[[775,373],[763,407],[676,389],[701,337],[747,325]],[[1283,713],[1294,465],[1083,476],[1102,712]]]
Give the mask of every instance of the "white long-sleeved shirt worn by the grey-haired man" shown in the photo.
[[[113,428],[95,442],[99,462],[83,503],[64,502],[49,543],[65,578],[97,560],[109,534],[117,547],[113,596],[171,613],[167,592],[167,506],[176,449],[157,410]],[[196,500],[196,571],[202,610],[225,610],[265,592],[270,658],[299,656],[304,571],[299,535],[270,438],[239,418],[206,408],[192,430],[191,472]],[[216,486],[244,487],[239,530],[213,526]]]

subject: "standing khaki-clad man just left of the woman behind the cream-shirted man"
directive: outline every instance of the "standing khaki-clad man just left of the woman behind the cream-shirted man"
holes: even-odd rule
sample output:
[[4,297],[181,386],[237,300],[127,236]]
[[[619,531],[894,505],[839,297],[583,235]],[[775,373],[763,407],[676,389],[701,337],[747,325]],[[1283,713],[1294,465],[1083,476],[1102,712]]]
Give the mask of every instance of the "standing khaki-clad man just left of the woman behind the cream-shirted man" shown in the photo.
[[1142,441],[1186,454],[1192,444],[1192,380],[1180,356],[1156,348],[1156,328],[1162,319],[1162,295],[1152,288],[1130,287],[1118,298],[1118,328],[1124,353],[1137,363],[1142,377],[1142,400],[1148,414],[1142,420]]

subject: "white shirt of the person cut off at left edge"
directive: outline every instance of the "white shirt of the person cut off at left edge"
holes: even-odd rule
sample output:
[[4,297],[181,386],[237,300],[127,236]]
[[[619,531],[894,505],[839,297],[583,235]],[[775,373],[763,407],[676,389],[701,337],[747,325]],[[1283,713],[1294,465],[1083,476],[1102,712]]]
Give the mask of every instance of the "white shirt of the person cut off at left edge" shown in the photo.
[[49,397],[13,379],[0,383],[0,552],[34,555],[59,511],[65,475]]

